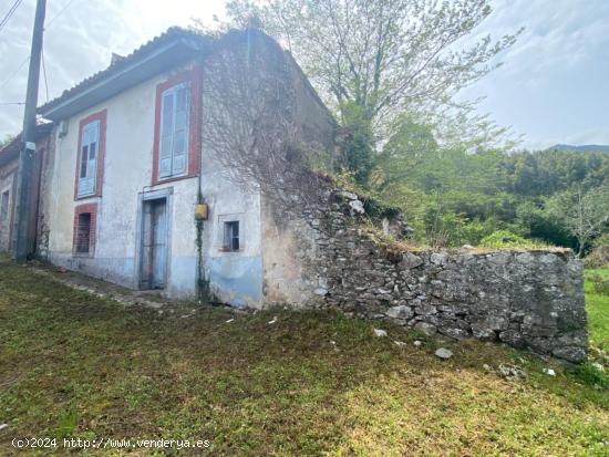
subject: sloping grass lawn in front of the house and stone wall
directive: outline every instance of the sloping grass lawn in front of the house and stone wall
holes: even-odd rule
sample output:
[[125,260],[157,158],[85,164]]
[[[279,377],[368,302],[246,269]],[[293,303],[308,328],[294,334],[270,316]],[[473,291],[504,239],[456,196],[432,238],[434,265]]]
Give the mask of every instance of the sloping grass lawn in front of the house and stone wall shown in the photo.
[[[591,341],[607,347],[607,298],[588,304]],[[438,342],[416,347],[389,325],[379,339],[330,312],[183,314],[125,309],[0,260],[0,454],[19,453],[14,437],[208,439],[203,455],[217,456],[609,454],[607,383],[588,370],[476,342],[442,343],[455,355],[441,361]],[[500,363],[526,378],[483,367]]]

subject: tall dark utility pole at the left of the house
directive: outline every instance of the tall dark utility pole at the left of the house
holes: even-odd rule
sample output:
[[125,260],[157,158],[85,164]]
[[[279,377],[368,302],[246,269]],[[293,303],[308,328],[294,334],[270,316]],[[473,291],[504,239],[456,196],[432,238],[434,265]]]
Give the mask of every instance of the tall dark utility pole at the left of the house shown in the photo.
[[42,53],[42,33],[44,31],[44,13],[47,0],[38,0],[35,6],[34,31],[30,53],[30,70],[28,72],[28,94],[23,114],[23,133],[19,168],[17,170],[17,195],[14,198],[14,260],[23,263],[28,260],[30,249],[30,210],[32,164],[35,152],[35,111],[38,105],[38,85],[40,79],[40,56]]

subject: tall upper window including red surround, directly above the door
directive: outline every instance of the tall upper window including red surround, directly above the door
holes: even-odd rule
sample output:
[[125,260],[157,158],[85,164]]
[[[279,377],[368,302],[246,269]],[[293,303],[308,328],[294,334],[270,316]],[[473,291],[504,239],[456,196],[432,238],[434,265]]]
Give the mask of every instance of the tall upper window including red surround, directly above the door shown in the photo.
[[200,67],[156,86],[152,184],[189,178],[200,164]]

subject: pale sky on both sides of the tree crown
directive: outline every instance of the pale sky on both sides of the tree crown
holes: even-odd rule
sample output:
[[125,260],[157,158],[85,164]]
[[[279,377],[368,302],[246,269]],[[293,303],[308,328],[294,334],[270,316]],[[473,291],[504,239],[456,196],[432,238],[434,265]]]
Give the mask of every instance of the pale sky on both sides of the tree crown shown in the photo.
[[[0,0],[3,17],[14,0]],[[0,138],[19,133],[35,0],[22,0],[0,30]],[[609,144],[609,0],[494,0],[475,30],[499,38],[525,31],[504,63],[466,89],[481,113],[523,135],[523,147]],[[52,100],[172,25],[211,23],[221,0],[48,0],[39,103]],[[41,75],[42,76],[42,75]],[[48,90],[47,90],[48,87]],[[48,94],[47,94],[48,93]]]

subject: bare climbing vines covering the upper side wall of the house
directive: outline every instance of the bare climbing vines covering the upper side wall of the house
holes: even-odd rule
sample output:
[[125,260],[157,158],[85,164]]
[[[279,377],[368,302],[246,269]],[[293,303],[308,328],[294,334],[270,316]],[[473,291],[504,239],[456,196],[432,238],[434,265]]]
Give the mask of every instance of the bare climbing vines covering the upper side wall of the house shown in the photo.
[[204,65],[205,147],[233,183],[289,205],[317,176],[299,141],[292,79],[289,58],[252,28],[228,33]]

